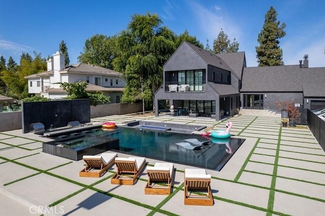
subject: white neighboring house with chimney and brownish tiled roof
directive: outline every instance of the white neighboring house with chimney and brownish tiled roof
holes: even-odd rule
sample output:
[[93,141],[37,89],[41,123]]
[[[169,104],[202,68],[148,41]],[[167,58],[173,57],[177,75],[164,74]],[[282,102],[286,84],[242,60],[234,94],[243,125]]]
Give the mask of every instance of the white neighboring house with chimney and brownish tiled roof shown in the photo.
[[85,63],[64,66],[64,54],[59,51],[47,61],[47,71],[24,78],[28,79],[28,93],[51,99],[67,96],[56,83],[84,81],[88,83],[86,92],[102,91],[111,103],[119,103],[125,86],[122,73],[108,68]]

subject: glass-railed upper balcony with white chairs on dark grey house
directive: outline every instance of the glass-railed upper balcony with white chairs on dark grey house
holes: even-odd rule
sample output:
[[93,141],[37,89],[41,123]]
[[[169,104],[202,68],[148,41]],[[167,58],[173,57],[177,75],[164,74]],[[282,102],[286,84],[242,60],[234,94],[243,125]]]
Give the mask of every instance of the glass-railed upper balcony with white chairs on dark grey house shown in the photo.
[[206,82],[165,82],[165,92],[205,92]]

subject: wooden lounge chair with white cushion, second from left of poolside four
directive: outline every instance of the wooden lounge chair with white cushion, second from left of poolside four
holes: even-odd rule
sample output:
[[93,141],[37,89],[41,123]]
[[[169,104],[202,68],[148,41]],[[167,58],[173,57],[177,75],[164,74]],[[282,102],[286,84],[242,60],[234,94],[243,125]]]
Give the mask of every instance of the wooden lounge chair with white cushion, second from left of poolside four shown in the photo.
[[146,165],[146,158],[128,157],[115,158],[117,172],[111,178],[111,184],[134,185],[136,179]]

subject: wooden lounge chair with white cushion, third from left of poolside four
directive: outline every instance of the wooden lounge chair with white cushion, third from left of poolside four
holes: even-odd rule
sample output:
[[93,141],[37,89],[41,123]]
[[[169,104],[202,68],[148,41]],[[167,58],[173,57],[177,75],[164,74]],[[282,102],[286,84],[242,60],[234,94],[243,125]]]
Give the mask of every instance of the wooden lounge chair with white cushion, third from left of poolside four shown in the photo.
[[155,163],[147,166],[148,182],[144,189],[145,194],[169,195],[172,190],[174,164]]

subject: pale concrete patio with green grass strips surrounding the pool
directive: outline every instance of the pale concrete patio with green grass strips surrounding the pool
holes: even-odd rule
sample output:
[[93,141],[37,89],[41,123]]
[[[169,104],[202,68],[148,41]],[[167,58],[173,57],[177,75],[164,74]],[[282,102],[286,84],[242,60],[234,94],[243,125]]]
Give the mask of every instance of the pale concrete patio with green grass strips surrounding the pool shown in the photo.
[[[255,114],[255,113],[254,113]],[[276,116],[231,117],[231,134],[246,141],[211,174],[213,206],[184,205],[185,165],[175,164],[172,194],[145,195],[146,170],[134,186],[112,185],[114,165],[101,178],[80,177],[84,161],[42,152],[50,139],[21,130],[0,132],[2,215],[323,215],[325,153],[308,128],[282,128]],[[135,120],[204,125],[224,122],[188,116],[107,116],[92,122]],[[198,132],[199,133],[199,132]],[[118,154],[119,157],[128,155]],[[147,166],[156,160],[146,159]]]

